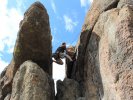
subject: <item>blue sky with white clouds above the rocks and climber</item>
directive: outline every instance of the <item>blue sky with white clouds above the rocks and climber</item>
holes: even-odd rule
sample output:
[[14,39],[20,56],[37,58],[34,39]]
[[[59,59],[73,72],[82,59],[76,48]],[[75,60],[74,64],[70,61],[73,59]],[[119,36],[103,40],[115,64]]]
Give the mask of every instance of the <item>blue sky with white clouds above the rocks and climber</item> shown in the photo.
[[[0,72],[10,63],[19,22],[37,0],[0,0]],[[62,43],[75,45],[92,0],[38,0],[49,14],[53,52]]]

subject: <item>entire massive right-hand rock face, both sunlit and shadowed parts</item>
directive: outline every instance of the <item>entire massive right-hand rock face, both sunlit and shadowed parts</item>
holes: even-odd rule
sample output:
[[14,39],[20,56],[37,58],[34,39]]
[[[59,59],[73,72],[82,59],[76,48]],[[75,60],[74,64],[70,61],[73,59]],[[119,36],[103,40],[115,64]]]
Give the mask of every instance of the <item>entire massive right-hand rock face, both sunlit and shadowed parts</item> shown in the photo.
[[132,4],[94,0],[86,16],[74,79],[87,100],[133,100]]

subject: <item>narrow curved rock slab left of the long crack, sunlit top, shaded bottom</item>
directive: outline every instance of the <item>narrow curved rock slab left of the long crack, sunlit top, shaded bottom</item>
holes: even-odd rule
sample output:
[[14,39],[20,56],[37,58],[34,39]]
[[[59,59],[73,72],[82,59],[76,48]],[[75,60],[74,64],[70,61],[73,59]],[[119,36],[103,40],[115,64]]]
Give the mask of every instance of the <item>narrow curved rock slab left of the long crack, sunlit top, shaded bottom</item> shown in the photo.
[[[80,82],[81,86],[83,86],[85,77],[84,77],[84,72],[85,72],[85,67],[84,63],[85,61],[85,54],[87,51],[87,45],[89,43],[92,30],[100,16],[104,11],[107,11],[109,9],[113,9],[117,7],[119,0],[93,0],[92,6],[90,10],[88,11],[84,25],[82,27],[81,35],[80,35],[80,40],[79,40],[79,46],[78,46],[78,57],[77,57],[77,62],[76,62],[76,75],[74,77],[75,80]],[[83,88],[83,94],[84,93],[84,86]]]

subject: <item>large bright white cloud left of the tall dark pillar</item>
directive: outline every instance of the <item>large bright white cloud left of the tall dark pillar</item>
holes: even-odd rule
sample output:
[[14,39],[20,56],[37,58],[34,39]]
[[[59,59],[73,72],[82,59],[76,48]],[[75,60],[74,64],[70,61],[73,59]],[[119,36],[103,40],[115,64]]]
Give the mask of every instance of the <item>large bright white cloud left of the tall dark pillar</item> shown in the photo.
[[16,8],[7,7],[8,0],[0,0],[0,51],[11,53],[15,44],[19,22],[23,18],[21,12]]

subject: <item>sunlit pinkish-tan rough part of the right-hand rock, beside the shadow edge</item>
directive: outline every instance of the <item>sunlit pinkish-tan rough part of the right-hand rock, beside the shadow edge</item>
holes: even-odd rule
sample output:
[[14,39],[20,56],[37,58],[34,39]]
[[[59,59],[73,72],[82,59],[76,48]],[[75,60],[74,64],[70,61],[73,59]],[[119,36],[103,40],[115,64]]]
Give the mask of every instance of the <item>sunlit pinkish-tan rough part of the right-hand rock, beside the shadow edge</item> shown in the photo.
[[105,100],[133,99],[132,20],[133,7],[123,6],[103,13],[94,27]]

